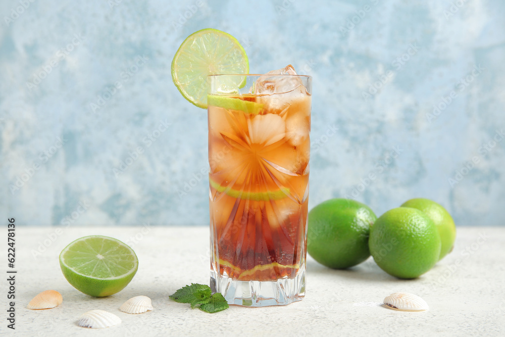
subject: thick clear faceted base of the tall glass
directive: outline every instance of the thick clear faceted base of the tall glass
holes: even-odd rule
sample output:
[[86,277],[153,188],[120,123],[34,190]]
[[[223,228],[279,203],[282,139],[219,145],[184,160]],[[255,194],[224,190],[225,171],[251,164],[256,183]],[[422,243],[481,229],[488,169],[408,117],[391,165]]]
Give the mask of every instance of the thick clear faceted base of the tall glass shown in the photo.
[[228,304],[247,307],[287,305],[305,297],[305,266],[294,278],[277,281],[237,281],[211,270],[211,289],[221,293]]

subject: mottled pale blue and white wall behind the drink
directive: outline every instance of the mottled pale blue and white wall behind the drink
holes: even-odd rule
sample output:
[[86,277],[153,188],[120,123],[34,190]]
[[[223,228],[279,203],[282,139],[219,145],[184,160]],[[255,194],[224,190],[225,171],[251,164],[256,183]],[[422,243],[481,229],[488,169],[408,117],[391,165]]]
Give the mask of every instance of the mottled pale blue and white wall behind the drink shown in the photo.
[[503,1],[245,3],[0,2],[2,217],[207,224],[206,112],[170,65],[213,27],[251,73],[314,77],[311,207],[426,197],[457,225],[503,225]]

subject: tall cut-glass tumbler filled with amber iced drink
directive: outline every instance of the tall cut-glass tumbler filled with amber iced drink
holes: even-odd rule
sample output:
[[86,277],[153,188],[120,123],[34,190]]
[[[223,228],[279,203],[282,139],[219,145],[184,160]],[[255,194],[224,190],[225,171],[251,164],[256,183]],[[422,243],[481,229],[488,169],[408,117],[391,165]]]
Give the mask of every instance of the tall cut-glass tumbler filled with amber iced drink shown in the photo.
[[230,304],[305,296],[312,78],[211,75],[211,287]]

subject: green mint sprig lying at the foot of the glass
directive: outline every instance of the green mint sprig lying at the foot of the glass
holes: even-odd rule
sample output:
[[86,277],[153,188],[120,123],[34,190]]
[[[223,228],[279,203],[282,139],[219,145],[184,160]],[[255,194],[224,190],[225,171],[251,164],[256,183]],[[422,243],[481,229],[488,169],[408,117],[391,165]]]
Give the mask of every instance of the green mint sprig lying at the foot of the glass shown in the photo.
[[189,303],[191,309],[199,306],[200,310],[208,313],[218,312],[229,307],[223,295],[220,293],[212,295],[210,286],[204,284],[191,283],[169,297],[178,303]]

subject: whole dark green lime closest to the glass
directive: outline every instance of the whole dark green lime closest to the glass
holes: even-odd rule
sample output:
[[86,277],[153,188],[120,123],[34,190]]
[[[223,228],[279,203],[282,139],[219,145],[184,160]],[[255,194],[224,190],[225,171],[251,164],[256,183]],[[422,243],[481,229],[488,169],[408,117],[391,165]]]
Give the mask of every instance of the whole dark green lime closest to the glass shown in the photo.
[[330,268],[344,269],[370,256],[368,236],[377,217],[351,199],[327,200],[309,212],[307,252]]

